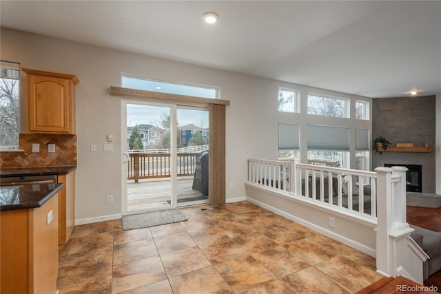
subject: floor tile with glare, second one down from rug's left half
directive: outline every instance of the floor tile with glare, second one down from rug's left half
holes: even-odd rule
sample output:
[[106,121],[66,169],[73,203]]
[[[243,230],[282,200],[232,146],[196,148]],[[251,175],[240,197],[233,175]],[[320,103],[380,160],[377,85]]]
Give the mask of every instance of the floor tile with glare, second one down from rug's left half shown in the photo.
[[133,260],[141,260],[158,255],[158,250],[152,238],[114,245],[113,264],[122,264]]

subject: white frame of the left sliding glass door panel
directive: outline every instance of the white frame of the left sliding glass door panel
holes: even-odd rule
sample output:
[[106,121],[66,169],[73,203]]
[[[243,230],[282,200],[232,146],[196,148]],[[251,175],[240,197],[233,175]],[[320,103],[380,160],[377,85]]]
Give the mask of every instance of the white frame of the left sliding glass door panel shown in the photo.
[[[148,209],[143,210],[135,210],[135,211],[127,211],[127,161],[125,161],[127,154],[125,150],[127,150],[127,104],[139,104],[139,105],[148,105],[148,106],[157,106],[157,107],[168,107],[171,109],[170,114],[170,160],[171,160],[171,185],[172,185],[172,195],[171,195],[171,204],[167,207],[150,207]],[[143,213],[147,211],[159,211],[165,209],[173,209],[177,207],[177,140],[176,140],[176,107],[175,104],[167,104],[167,103],[153,103],[150,101],[139,100],[139,99],[130,99],[130,98],[122,98],[121,99],[121,150],[123,150],[123,154],[121,154],[121,177],[122,184],[121,185],[121,211],[123,216],[134,214],[134,213]]]

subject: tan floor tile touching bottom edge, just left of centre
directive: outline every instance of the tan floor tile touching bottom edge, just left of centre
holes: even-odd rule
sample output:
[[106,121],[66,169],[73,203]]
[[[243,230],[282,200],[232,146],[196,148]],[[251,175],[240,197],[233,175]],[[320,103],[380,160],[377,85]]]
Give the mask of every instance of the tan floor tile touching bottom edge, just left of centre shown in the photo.
[[170,278],[174,293],[234,293],[213,266]]

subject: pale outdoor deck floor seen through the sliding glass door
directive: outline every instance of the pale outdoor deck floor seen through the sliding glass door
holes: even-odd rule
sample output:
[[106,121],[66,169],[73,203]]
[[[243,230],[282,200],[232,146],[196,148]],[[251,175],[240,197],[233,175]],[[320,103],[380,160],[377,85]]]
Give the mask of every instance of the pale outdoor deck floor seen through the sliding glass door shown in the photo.
[[[192,189],[193,176],[178,178],[178,205],[194,200],[208,200],[199,190]],[[127,210],[138,210],[152,204],[167,206],[172,194],[170,178],[153,178],[139,182],[127,182]]]

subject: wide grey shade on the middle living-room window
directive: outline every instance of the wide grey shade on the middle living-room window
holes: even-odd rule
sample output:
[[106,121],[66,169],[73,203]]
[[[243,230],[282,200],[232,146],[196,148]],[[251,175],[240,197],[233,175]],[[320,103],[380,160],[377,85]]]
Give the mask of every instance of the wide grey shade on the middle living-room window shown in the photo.
[[308,125],[308,149],[349,150],[349,128]]

